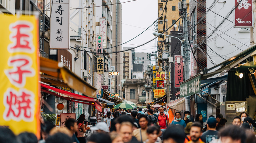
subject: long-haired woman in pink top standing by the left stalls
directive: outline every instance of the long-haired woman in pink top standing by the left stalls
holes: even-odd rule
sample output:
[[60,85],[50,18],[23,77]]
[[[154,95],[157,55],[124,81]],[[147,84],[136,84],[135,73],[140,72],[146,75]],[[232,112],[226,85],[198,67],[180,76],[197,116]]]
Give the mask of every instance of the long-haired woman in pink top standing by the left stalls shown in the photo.
[[86,126],[84,125],[85,115],[81,114],[79,118],[77,119],[77,139],[80,143],[86,143],[85,139],[85,132],[86,132]]

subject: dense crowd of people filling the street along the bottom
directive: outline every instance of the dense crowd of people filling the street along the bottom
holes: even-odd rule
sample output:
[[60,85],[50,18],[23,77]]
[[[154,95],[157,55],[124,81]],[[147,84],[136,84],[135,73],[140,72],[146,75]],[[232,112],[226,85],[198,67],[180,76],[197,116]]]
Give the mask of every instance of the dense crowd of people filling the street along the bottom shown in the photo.
[[[189,111],[182,113],[183,119],[181,112],[174,116],[175,120],[169,123],[163,107],[110,109],[103,121],[90,129],[84,114],[77,120],[67,119],[65,128],[44,122],[39,141],[32,133],[14,135],[9,128],[0,127],[0,143],[256,143],[255,120],[246,112],[234,117],[229,126],[225,126],[227,120],[221,114],[210,116],[207,123],[202,114],[192,122]],[[87,130],[93,134],[87,136]]]

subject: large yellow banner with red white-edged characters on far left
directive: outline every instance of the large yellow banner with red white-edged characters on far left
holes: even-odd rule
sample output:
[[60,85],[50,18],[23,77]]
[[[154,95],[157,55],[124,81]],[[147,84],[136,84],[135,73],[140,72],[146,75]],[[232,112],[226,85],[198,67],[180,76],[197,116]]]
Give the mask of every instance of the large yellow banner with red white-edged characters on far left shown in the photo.
[[39,20],[0,15],[0,126],[40,137]]

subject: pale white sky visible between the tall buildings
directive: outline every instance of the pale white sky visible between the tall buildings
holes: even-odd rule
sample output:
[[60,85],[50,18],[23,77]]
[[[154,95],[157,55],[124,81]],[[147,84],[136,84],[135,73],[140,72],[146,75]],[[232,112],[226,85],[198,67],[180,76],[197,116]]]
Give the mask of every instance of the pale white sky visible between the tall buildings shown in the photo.
[[[120,0],[120,2],[126,1],[130,0]],[[158,18],[157,3],[158,0],[137,0],[122,3],[122,43],[139,35]],[[127,44],[123,44],[122,46],[136,47],[137,45],[141,45],[154,38],[154,35],[152,34],[153,32],[155,32],[154,25],[136,39],[128,42]],[[136,52],[149,53],[154,51],[154,45],[156,45],[155,41],[156,40],[153,40],[150,43],[147,43],[146,46],[136,48]]]

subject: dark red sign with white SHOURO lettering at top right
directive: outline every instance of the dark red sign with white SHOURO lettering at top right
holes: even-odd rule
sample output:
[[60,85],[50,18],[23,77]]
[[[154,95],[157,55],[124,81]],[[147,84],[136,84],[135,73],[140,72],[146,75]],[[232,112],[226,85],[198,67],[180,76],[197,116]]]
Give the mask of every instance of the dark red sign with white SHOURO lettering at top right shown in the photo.
[[252,27],[252,0],[235,1],[235,27]]

